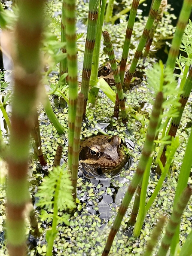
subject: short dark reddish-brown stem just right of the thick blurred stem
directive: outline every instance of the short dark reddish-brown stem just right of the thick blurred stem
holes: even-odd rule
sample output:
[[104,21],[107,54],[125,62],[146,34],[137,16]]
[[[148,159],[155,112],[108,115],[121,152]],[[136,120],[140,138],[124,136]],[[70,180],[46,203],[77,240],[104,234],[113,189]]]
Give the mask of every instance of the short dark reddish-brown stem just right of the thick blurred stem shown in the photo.
[[42,147],[41,147],[40,124],[39,124],[37,109],[34,113],[34,126],[31,129],[31,136],[34,139],[33,145],[37,153],[37,157],[40,161],[40,165],[46,166],[47,162],[43,156]]

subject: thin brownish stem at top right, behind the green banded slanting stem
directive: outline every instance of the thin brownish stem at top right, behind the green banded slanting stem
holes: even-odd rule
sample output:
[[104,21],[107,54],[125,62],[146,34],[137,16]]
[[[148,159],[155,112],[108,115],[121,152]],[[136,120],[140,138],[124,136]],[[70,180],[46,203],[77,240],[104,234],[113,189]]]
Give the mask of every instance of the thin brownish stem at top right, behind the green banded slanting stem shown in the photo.
[[[153,2],[154,2],[154,0],[152,1],[152,3]],[[168,1],[162,0],[161,4],[159,6],[159,9],[158,9],[158,14],[155,18],[154,24],[152,26],[152,29],[149,33],[149,37],[146,42],[146,47],[145,47],[145,52],[143,53],[143,58],[146,58],[146,56],[149,54],[149,50],[150,50],[150,47],[151,47],[151,44],[152,44],[152,41],[153,41],[153,38],[154,38],[154,35],[156,32],[156,28],[158,26],[159,21],[162,20],[162,17],[163,17],[163,14],[164,14],[164,11],[165,11],[165,8],[167,5],[168,5]]]

